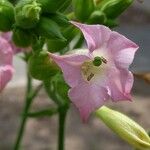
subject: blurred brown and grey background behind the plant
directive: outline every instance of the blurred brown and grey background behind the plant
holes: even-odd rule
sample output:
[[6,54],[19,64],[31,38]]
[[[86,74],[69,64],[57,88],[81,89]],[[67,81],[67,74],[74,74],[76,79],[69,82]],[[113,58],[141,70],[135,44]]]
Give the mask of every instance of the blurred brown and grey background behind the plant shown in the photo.
[[[126,35],[140,46],[131,70],[150,72],[150,1],[135,1],[119,18],[119,27],[114,30]],[[7,88],[0,94],[0,150],[12,150],[20,124],[23,97],[25,93],[25,64],[19,56],[14,58],[15,74]],[[37,83],[37,82],[36,82]],[[44,91],[34,101],[32,110],[53,105]],[[150,129],[150,85],[135,79],[133,102],[109,104],[135,119],[145,129]],[[29,119],[23,150],[55,150],[57,146],[57,116]],[[66,150],[132,150],[124,141],[114,135],[102,122],[90,118],[83,124],[77,110],[72,106],[66,126]]]

